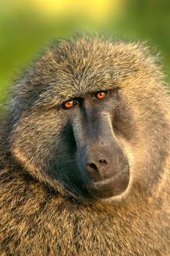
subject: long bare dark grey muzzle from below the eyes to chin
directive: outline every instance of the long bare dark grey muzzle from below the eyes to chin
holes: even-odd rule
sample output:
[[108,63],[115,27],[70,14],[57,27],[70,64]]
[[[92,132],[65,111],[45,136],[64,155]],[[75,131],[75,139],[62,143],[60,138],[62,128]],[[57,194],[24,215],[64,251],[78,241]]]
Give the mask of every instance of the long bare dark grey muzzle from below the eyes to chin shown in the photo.
[[88,108],[74,116],[72,128],[77,165],[89,195],[107,198],[122,194],[129,183],[129,165],[114,135],[109,114]]

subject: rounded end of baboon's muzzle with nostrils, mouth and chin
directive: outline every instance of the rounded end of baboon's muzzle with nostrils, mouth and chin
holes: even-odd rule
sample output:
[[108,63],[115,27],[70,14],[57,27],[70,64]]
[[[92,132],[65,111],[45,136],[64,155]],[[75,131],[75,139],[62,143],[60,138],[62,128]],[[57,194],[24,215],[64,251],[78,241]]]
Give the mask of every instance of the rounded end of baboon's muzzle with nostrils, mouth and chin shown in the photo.
[[92,197],[113,197],[120,195],[128,187],[128,158],[118,145],[87,146],[84,153],[84,169]]

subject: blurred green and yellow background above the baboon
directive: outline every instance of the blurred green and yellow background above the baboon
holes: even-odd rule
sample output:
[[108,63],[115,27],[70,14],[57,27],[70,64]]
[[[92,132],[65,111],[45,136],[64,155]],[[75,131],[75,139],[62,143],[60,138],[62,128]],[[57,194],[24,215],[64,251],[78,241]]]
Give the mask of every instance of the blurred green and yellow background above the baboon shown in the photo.
[[81,31],[148,41],[170,81],[169,27],[170,0],[0,0],[0,103],[45,43]]

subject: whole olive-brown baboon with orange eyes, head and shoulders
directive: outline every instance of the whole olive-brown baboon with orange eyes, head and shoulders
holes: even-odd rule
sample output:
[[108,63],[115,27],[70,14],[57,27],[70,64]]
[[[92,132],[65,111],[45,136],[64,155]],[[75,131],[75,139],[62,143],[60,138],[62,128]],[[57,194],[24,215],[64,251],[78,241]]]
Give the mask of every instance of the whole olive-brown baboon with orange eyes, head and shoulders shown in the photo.
[[56,40],[1,121],[1,255],[170,255],[169,93],[142,43]]

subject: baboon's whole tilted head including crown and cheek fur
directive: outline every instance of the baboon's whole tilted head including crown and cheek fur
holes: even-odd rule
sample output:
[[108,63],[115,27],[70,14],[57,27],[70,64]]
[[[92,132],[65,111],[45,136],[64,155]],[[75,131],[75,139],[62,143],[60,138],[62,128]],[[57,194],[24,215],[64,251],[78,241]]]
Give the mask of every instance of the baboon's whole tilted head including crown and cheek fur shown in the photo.
[[161,84],[138,44],[54,43],[17,84],[12,153],[25,171],[68,195],[150,191],[166,157]]

